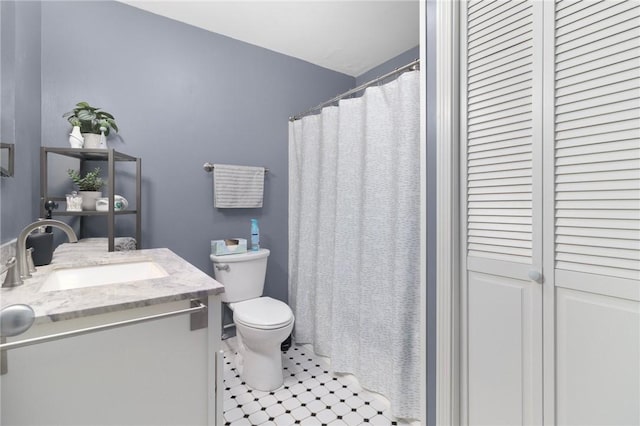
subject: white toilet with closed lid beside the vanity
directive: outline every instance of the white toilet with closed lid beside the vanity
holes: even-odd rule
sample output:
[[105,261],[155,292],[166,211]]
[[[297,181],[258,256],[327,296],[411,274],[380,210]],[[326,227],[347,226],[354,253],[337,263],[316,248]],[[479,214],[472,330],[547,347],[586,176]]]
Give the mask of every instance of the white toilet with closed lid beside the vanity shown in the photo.
[[280,344],[293,329],[293,312],[279,300],[262,297],[269,250],[210,255],[213,274],[225,292],[236,324],[236,368],[247,386],[272,391],[284,382]]

